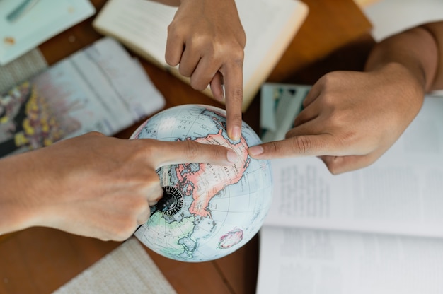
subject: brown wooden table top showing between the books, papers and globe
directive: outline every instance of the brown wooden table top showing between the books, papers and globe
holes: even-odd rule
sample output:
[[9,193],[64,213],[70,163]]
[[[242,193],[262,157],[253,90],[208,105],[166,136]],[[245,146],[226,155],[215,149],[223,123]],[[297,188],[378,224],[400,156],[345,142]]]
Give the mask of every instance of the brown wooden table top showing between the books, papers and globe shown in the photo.
[[[314,83],[336,69],[362,69],[374,44],[371,24],[352,0],[304,0],[310,12],[304,25],[275,67],[268,81]],[[99,11],[104,0],[93,0]],[[101,36],[93,18],[70,28],[40,46],[48,64],[67,57]],[[184,103],[217,105],[218,102],[170,74],[142,61],[166,107]],[[244,113],[258,131],[259,99]],[[117,134],[128,138],[138,124]],[[0,293],[51,293],[120,245],[70,235],[49,228],[30,228],[0,240]],[[258,273],[258,237],[233,254],[198,264],[172,261],[146,249],[178,293],[255,293]]]

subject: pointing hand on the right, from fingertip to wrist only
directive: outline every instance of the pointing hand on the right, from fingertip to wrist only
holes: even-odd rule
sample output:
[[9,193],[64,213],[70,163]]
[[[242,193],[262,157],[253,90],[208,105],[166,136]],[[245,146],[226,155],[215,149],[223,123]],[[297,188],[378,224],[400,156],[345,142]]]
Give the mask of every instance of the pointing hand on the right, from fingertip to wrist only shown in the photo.
[[408,70],[335,71],[306,96],[286,139],[249,148],[253,158],[318,156],[333,174],[374,163],[422,105],[424,90]]

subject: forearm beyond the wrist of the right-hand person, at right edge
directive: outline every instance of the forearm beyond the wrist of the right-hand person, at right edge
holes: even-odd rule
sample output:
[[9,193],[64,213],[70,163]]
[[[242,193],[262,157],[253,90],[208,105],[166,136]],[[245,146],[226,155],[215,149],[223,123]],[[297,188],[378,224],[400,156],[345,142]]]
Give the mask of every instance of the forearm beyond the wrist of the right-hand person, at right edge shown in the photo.
[[375,45],[365,71],[402,66],[423,92],[443,88],[443,21],[427,23]]

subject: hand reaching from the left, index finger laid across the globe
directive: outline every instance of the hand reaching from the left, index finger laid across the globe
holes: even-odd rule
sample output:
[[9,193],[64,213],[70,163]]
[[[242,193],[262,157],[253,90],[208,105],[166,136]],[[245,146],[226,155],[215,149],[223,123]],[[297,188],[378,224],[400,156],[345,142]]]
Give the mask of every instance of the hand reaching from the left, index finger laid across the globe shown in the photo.
[[[125,240],[163,195],[156,169],[175,163],[231,165],[236,156],[228,148],[193,141],[123,140],[99,133],[12,156],[1,162],[13,181],[8,179],[8,189],[1,182],[5,177],[0,180],[0,234],[40,225]],[[5,230],[8,221],[15,223]]]

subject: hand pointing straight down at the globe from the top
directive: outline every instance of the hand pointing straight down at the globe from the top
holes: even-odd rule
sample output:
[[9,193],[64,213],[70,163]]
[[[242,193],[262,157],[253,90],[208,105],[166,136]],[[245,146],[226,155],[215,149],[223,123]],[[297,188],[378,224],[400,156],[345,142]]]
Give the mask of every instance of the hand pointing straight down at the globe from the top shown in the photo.
[[[234,0],[182,0],[168,26],[166,62],[190,77],[190,85],[226,98],[227,132],[241,136],[243,49],[246,35]],[[223,88],[224,85],[224,88]]]

